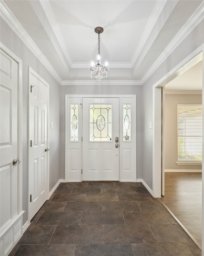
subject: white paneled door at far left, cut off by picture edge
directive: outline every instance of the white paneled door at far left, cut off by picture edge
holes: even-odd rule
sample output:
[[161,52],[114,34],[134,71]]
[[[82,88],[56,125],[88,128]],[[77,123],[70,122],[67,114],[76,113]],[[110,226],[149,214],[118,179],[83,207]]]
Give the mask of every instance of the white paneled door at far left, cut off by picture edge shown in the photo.
[[[1,51],[0,229],[18,215],[18,63]],[[1,254],[3,255],[3,254]]]

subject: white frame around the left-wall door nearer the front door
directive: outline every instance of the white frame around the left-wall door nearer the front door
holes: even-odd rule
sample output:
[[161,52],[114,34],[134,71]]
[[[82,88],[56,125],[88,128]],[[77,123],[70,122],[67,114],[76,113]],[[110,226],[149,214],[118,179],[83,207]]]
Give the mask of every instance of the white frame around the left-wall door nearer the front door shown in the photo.
[[[49,84],[38,74],[36,73],[30,66],[29,66],[29,79],[28,79],[28,93],[31,89],[30,84],[30,74],[33,74],[37,79],[39,79],[43,84],[47,86],[47,148],[49,148]],[[30,110],[30,102],[28,100],[28,223],[31,221],[30,217],[30,204],[29,204],[29,155],[30,155],[30,117],[29,117],[29,110]],[[47,200],[49,199],[49,151],[47,151]]]

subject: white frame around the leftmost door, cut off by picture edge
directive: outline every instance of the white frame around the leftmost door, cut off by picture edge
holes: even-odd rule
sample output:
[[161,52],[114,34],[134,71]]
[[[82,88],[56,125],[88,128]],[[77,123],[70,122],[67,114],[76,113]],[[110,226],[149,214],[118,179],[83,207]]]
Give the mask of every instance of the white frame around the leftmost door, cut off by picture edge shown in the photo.
[[[14,61],[18,64],[18,159],[21,161],[18,164],[18,215],[17,217],[9,223],[9,226],[1,230],[1,236],[3,236],[8,229],[14,225],[14,223],[20,218],[23,214],[23,144],[22,144],[22,113],[23,113],[23,79],[22,79],[22,69],[23,62],[17,55],[15,55],[9,48],[7,48],[4,44],[0,43],[0,48],[3,52],[9,55]],[[21,223],[22,224],[22,223]]]

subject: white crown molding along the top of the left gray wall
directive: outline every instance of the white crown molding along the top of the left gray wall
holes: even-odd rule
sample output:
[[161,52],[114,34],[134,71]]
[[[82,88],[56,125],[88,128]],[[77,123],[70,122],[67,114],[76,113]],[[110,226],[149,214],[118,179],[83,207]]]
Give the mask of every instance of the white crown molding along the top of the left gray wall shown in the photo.
[[58,83],[62,83],[62,78],[58,75],[56,70],[50,64],[50,62],[46,59],[37,45],[33,42],[31,37],[25,31],[25,29],[21,26],[19,21],[7,7],[7,5],[0,1],[0,16],[3,20],[9,25],[9,27],[17,34],[17,36],[23,41],[23,43],[28,47],[28,49],[35,55],[38,60],[43,64],[45,68],[51,73],[51,75],[57,80]]

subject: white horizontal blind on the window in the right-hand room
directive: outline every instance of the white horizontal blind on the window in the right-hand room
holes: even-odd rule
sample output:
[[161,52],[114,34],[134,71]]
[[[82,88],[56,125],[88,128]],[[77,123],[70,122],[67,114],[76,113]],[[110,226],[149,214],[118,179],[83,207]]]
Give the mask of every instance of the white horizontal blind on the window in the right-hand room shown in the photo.
[[202,161],[202,105],[178,105],[178,161]]

